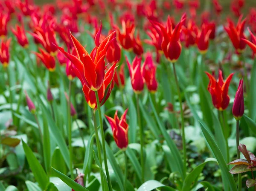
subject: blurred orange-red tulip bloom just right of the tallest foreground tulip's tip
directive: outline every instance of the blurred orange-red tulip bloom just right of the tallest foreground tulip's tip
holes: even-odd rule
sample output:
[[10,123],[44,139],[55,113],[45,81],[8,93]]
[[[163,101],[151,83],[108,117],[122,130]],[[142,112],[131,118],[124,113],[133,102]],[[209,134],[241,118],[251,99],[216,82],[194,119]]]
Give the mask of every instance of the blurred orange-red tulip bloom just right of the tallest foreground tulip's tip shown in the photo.
[[117,29],[117,40],[121,44],[121,46],[126,50],[131,50],[134,47],[134,32],[135,26],[130,20],[122,20],[122,31],[118,26],[113,26]]

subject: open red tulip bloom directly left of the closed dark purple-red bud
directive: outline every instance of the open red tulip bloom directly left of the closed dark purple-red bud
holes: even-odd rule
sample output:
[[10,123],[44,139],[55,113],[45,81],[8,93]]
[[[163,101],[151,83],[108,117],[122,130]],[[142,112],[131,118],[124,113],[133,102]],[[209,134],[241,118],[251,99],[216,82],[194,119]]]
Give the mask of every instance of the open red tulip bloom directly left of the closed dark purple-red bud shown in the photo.
[[227,95],[228,87],[234,73],[230,74],[224,82],[222,71],[219,69],[219,78],[216,80],[211,74],[206,72],[209,78],[209,85],[207,90],[212,96],[212,103],[215,108],[222,111],[225,110],[229,104],[230,97]]

